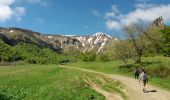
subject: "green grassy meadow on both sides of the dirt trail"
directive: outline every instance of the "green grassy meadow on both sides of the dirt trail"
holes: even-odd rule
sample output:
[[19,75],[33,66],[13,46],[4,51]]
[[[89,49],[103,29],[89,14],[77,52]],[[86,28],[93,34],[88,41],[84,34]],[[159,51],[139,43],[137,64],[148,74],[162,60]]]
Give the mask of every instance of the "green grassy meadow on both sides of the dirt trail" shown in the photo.
[[142,66],[149,74],[149,83],[170,90],[169,65],[170,58],[156,56],[143,57],[141,65],[133,65],[130,61],[128,68],[119,60],[66,63],[66,67],[36,64],[0,66],[0,100],[105,100],[104,95],[94,89],[94,85],[128,99],[119,81],[67,66],[131,78],[134,77],[134,66]]

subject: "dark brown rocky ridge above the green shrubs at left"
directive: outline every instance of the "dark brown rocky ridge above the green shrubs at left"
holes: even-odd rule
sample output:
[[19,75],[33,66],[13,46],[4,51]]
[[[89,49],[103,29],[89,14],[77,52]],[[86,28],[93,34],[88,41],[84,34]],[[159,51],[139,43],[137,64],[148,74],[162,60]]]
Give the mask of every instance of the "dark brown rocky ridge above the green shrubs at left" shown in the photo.
[[54,48],[52,45],[49,45],[42,39],[41,33],[34,32],[31,30],[23,28],[0,28],[0,39],[9,45],[16,45],[18,43],[31,43],[39,47],[48,47],[54,50],[59,48]]

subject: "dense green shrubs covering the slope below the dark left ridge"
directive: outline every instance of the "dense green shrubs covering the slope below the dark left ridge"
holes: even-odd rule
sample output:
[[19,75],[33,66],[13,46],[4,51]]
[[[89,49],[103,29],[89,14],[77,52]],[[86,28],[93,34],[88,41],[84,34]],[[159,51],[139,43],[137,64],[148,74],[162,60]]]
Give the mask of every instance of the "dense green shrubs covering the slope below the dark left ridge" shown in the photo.
[[69,57],[49,48],[26,43],[10,46],[0,41],[0,61],[3,62],[25,61],[30,64],[57,64],[63,60],[69,60]]

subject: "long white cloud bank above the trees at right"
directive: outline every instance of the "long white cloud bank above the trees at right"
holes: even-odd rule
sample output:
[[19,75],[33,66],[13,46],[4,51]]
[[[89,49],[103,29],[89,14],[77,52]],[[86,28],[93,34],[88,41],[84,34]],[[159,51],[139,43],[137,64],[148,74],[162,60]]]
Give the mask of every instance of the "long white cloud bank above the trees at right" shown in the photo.
[[[106,21],[106,27],[108,29],[120,29],[124,25],[129,25],[141,20],[151,22],[160,16],[162,16],[164,21],[166,22],[170,20],[169,12],[170,4],[168,5],[141,4],[136,6],[136,9],[132,12],[129,12],[127,14],[118,14],[117,16],[113,16],[112,18],[108,18]],[[110,22],[109,24],[108,21]]]

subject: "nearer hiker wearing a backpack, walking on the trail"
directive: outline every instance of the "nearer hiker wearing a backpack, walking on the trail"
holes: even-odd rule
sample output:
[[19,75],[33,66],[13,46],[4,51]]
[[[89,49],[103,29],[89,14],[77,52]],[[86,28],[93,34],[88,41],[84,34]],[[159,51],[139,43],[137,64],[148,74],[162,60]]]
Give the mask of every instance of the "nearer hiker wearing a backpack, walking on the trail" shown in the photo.
[[139,77],[139,83],[140,81],[142,81],[142,86],[143,86],[143,92],[146,92],[146,83],[148,83],[148,77],[145,73],[145,70],[142,69],[142,73],[140,74],[140,77]]

